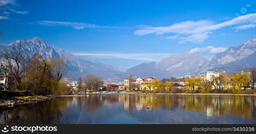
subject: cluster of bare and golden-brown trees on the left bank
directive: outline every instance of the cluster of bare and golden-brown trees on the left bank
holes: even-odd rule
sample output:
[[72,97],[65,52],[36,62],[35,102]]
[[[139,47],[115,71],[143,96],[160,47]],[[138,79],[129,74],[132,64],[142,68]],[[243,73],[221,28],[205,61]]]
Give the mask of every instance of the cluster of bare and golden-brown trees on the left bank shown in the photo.
[[28,58],[18,46],[2,54],[1,59],[0,75],[5,78],[7,90],[26,90],[37,95],[69,92],[61,80],[67,72],[65,58],[44,58],[41,54]]

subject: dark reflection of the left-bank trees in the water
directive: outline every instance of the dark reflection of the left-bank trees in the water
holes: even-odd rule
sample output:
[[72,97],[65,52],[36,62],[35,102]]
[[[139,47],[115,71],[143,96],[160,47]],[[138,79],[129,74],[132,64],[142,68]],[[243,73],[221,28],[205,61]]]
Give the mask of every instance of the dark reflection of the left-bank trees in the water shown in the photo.
[[[4,121],[6,124],[49,124],[53,119],[62,116],[61,110],[67,106],[65,99],[47,100],[44,102],[20,105],[13,109],[5,109]],[[58,122],[58,121],[57,121]]]

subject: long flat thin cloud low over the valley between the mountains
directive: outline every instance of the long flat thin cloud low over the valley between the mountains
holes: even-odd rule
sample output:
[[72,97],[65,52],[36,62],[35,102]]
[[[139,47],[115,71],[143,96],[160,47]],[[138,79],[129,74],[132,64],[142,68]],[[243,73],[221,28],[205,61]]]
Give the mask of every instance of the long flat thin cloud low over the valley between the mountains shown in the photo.
[[91,57],[99,57],[99,58],[117,58],[117,59],[135,59],[142,61],[151,61],[151,62],[159,62],[164,58],[167,58],[171,54],[167,53],[73,53],[77,56],[91,56]]

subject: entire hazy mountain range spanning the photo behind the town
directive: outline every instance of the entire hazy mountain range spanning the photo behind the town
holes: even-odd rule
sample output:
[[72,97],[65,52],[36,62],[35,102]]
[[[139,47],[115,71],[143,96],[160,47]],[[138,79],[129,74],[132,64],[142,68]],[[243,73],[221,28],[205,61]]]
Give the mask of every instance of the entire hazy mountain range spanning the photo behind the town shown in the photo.
[[230,47],[224,52],[216,54],[210,61],[196,53],[180,53],[169,56],[159,63],[141,63],[125,72],[102,63],[93,63],[81,59],[61,48],[46,44],[44,40],[35,37],[28,40],[16,40],[8,46],[0,46],[0,54],[12,51],[21,46],[26,58],[35,53],[44,57],[65,57],[68,64],[68,74],[73,78],[88,74],[102,76],[109,82],[120,82],[132,73],[134,78],[153,76],[157,79],[197,75],[205,71],[226,71],[237,73],[243,69],[256,67],[256,38],[252,38],[238,47]]

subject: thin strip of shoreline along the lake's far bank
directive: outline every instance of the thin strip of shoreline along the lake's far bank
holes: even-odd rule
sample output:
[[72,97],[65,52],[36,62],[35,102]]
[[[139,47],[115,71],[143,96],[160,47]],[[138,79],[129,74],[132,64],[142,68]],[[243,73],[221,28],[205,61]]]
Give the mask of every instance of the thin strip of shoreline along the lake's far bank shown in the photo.
[[81,94],[81,95],[62,95],[62,96],[86,96],[90,94],[102,94],[102,95],[199,95],[199,96],[256,96],[256,94],[233,94],[233,93],[142,93],[142,92],[92,92],[88,94]]

